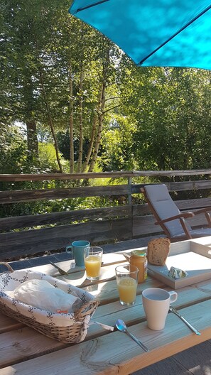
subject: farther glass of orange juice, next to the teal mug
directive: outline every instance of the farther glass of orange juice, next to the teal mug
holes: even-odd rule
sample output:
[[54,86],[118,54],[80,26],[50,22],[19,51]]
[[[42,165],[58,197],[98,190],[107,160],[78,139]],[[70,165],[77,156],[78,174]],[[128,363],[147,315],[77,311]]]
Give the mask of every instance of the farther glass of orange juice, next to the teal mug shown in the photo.
[[98,280],[102,263],[102,247],[85,247],[85,268],[89,280]]

